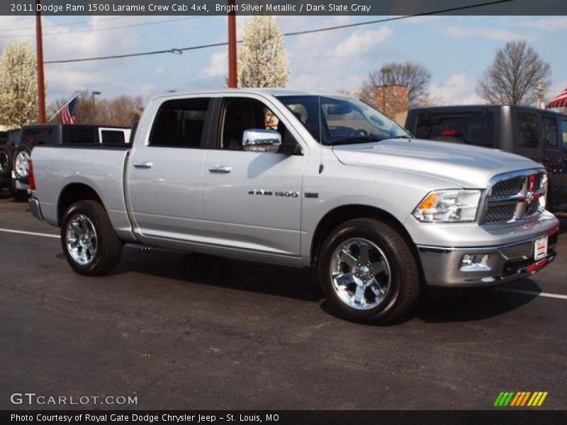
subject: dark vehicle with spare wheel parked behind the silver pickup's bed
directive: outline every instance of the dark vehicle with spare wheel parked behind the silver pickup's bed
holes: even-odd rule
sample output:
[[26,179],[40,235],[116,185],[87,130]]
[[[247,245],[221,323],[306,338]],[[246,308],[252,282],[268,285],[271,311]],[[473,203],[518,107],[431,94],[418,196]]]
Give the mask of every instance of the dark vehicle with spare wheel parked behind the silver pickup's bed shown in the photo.
[[15,142],[12,163],[12,191],[16,198],[27,198],[30,155],[36,146],[51,145],[127,145],[130,128],[100,125],[35,124],[21,129]]

